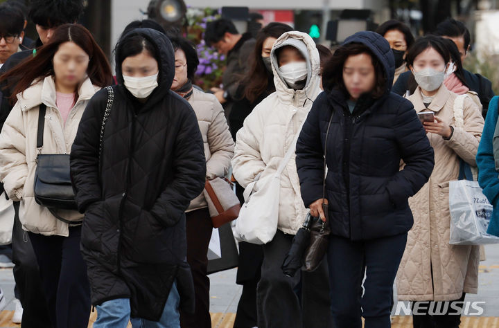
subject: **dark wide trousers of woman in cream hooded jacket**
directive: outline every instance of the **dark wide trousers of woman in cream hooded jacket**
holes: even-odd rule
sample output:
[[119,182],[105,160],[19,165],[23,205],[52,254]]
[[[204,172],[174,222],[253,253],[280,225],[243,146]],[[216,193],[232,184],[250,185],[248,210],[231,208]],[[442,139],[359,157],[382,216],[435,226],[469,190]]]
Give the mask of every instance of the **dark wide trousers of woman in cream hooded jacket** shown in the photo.
[[[263,245],[256,297],[258,327],[329,328],[331,299],[326,262],[314,272],[299,271],[294,277],[287,277],[281,270],[293,237],[277,230],[272,242]],[[296,292],[300,282],[301,299]]]

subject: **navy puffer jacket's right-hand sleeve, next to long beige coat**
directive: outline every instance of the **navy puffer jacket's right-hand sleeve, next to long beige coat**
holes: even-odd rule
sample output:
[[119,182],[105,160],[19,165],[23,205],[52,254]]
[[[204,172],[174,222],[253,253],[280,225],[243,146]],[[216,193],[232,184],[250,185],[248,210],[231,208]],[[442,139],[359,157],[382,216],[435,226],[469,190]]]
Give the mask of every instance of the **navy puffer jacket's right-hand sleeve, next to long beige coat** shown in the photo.
[[435,165],[433,148],[412,103],[405,99],[401,101],[403,103],[394,122],[394,134],[405,167],[386,186],[395,206],[406,203],[428,182]]

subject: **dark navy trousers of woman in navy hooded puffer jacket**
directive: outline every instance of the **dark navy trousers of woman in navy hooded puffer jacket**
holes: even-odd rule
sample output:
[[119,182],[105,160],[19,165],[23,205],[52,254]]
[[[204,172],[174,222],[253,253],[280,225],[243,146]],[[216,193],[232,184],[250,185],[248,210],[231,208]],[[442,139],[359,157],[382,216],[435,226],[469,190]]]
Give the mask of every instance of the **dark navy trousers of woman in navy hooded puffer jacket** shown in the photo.
[[[352,242],[331,236],[328,250],[331,312],[335,327],[389,328],[392,286],[407,233]],[[362,295],[362,280],[364,295]]]

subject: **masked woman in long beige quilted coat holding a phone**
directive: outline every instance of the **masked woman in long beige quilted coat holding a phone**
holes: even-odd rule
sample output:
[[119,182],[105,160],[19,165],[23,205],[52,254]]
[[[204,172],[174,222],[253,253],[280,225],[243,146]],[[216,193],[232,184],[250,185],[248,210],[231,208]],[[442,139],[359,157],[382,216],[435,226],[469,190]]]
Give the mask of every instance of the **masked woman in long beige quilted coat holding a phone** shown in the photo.
[[[408,65],[419,85],[409,100],[418,113],[430,113],[423,127],[435,149],[430,180],[409,200],[414,226],[397,275],[399,300],[427,302],[413,315],[414,327],[459,327],[460,316],[453,307],[462,303],[450,307],[449,302],[462,301],[466,293],[478,289],[478,246],[449,244],[448,194],[449,181],[459,178],[460,165],[476,167],[484,120],[469,96],[458,96],[444,85],[449,60],[444,40],[435,36],[421,37],[408,53]],[[436,304],[429,303],[437,301],[446,302],[444,313],[431,316],[428,309]]]

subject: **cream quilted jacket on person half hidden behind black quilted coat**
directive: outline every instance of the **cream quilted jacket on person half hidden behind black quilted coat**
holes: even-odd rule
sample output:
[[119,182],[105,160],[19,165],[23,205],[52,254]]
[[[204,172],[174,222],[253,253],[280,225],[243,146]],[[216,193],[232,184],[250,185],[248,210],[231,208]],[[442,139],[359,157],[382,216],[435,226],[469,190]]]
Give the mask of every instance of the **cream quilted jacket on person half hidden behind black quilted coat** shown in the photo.
[[[230,161],[234,156],[234,140],[227,125],[227,119],[220,102],[210,93],[193,88],[187,99],[194,109],[204,143],[204,156],[207,159],[207,179],[222,177],[229,172]],[[206,208],[204,195],[191,201],[187,212]]]

